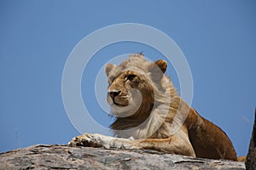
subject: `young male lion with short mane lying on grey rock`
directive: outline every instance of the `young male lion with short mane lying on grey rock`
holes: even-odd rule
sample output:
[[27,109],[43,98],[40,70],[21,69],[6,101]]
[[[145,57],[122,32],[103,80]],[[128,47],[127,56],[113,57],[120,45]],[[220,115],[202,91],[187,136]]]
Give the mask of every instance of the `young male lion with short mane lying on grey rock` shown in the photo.
[[236,161],[228,136],[177,95],[166,68],[165,60],[152,63],[143,54],[131,54],[118,66],[108,64],[107,100],[116,117],[110,127],[118,138],[84,133],[69,144]]

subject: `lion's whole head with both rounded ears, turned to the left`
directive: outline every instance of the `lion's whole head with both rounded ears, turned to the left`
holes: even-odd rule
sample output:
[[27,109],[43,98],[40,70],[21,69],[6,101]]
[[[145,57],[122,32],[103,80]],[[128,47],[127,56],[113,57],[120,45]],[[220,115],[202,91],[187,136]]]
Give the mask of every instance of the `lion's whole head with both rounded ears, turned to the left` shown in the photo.
[[131,54],[120,65],[106,65],[107,100],[113,116],[136,116],[142,112],[149,115],[154,105],[165,103],[164,95],[172,88],[164,75],[166,68],[165,60],[149,62],[143,54]]

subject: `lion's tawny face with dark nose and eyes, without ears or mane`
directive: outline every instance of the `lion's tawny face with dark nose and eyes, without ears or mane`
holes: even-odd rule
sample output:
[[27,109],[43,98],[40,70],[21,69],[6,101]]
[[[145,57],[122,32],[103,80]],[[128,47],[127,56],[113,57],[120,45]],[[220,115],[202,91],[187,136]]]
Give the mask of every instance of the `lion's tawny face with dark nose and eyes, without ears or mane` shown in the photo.
[[108,82],[107,100],[114,116],[131,116],[143,102],[154,100],[152,87],[136,71],[123,71]]

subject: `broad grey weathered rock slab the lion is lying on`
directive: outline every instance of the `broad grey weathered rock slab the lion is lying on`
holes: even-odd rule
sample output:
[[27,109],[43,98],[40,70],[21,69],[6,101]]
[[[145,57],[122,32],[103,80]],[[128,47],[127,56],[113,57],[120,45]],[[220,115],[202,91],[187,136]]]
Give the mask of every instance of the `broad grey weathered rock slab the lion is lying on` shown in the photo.
[[0,169],[245,169],[243,162],[164,154],[38,144],[0,154]]

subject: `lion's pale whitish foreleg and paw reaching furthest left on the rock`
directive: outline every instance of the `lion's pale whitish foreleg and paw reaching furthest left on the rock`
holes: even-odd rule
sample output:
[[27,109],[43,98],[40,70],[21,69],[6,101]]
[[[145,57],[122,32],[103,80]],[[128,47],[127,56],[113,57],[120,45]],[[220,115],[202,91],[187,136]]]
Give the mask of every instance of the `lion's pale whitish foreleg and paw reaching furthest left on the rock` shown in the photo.
[[104,147],[107,149],[140,149],[131,139],[119,139],[98,133],[84,133],[73,138],[68,144],[73,146]]

